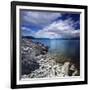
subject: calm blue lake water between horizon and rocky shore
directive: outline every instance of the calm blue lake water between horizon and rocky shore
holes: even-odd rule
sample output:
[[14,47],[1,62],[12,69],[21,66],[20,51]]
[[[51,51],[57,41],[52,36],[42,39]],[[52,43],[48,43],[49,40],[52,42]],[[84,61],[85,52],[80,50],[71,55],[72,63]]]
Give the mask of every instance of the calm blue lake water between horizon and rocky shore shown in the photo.
[[60,53],[75,60],[79,60],[80,58],[80,40],[34,39],[34,41],[48,46],[50,53]]

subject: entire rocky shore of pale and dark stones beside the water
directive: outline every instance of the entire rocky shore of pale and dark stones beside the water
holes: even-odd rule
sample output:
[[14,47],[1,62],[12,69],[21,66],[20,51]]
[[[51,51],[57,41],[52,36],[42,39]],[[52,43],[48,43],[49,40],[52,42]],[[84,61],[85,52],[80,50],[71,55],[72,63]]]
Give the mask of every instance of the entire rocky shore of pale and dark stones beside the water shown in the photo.
[[21,41],[21,78],[46,78],[78,76],[75,64],[63,55],[50,54],[48,47],[33,42]]

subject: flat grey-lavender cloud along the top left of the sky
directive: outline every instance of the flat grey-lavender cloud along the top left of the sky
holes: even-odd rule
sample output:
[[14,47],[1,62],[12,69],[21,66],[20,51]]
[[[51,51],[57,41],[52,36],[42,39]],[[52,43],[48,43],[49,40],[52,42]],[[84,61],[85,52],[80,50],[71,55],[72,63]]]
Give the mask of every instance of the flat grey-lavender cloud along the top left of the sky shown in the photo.
[[24,11],[23,19],[33,25],[46,26],[55,19],[61,17],[61,13]]

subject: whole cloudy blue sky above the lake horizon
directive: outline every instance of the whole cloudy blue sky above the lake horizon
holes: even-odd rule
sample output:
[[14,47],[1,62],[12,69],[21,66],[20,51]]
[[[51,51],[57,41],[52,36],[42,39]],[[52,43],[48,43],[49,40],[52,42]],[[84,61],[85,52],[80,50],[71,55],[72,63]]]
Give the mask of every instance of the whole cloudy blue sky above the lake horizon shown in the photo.
[[80,36],[80,14],[21,10],[20,29],[22,36],[75,38]]

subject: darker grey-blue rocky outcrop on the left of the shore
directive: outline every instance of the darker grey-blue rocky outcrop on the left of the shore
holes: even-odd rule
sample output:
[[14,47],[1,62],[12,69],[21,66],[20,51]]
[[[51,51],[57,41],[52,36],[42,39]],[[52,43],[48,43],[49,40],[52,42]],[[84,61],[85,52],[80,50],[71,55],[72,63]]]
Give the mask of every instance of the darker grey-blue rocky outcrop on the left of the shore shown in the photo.
[[41,43],[34,43],[31,39],[22,39],[21,42],[21,75],[28,75],[40,67],[37,56],[48,52],[48,47]]

